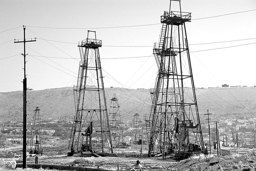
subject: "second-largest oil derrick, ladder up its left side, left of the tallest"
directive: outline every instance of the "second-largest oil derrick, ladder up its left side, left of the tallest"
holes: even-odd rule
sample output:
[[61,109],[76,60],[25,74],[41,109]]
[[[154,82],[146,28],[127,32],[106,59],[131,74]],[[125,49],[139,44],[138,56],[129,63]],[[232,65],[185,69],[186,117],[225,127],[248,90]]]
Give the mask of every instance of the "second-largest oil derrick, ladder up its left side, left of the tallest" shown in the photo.
[[74,86],[76,115],[68,146],[70,155],[83,151],[113,153],[99,58],[101,46],[95,31],[88,31],[87,38],[78,45],[81,62]]

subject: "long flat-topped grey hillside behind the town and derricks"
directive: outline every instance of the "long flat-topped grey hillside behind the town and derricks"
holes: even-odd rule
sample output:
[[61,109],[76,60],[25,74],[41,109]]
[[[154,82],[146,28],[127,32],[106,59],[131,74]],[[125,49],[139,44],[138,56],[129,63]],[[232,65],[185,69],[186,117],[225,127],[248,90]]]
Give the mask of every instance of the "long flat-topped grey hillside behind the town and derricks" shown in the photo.
[[[187,90],[191,91],[189,88]],[[139,113],[143,120],[143,115],[150,112],[152,102],[149,89],[105,88],[105,92],[108,109],[110,99],[116,93],[122,121],[131,121],[135,113]],[[212,117],[256,117],[256,87],[197,88],[196,97],[202,120],[207,108],[213,114]],[[27,100],[28,118],[33,117],[38,107],[42,119],[73,121],[75,106],[72,88],[29,90]],[[22,120],[22,91],[0,93],[0,104],[2,122]]]

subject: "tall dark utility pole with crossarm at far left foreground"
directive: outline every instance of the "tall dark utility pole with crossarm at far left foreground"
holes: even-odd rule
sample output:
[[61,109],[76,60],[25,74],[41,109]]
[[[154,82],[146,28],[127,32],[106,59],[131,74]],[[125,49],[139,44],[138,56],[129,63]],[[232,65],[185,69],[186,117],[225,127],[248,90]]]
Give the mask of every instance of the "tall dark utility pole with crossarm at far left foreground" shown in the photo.
[[27,78],[26,78],[26,42],[35,42],[34,39],[26,40],[25,30],[26,26],[23,26],[24,40],[14,39],[14,43],[24,43],[24,79],[23,79],[23,168],[27,168]]

